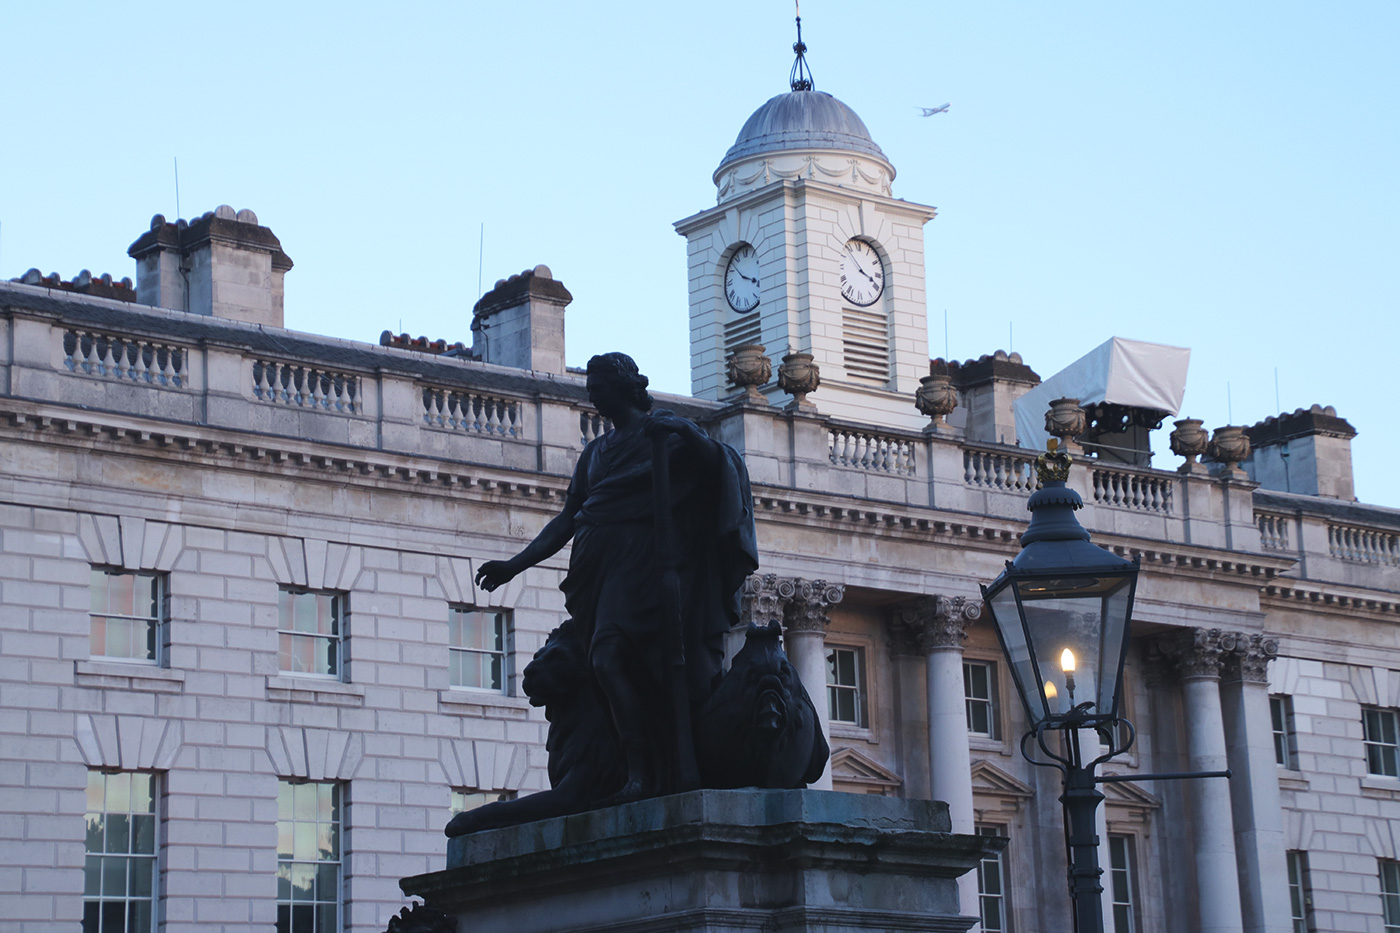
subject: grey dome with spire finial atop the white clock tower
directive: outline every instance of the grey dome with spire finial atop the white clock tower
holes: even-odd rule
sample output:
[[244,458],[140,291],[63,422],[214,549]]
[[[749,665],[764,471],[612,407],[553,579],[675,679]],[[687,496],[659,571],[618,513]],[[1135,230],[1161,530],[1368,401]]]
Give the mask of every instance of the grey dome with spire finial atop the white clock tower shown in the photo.
[[792,64],[792,90],[753,111],[714,171],[720,203],[792,178],[813,178],[888,198],[895,167],[855,111],[812,87],[801,35],[794,50],[798,57]]

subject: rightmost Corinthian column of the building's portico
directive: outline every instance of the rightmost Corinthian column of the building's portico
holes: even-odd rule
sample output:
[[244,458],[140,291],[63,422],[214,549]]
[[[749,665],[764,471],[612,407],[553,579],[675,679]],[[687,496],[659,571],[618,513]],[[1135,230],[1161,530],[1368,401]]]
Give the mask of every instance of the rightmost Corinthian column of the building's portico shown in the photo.
[[1277,640],[1242,635],[1235,651],[1225,656],[1221,679],[1245,933],[1292,929],[1274,721],[1268,713],[1268,661],[1277,656]]

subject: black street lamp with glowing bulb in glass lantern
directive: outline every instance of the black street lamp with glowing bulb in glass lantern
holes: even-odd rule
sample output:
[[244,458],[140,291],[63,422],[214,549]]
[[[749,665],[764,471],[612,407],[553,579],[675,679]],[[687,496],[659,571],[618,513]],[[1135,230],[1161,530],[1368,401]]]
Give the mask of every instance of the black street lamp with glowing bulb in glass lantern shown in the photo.
[[[1103,794],[1093,772],[1133,744],[1133,727],[1119,712],[1138,559],[1124,560],[1089,542],[1074,517],[1084,500],[1065,486],[1071,462],[1051,438],[1049,452],[1036,459],[1040,488],[1026,503],[1030,527],[1021,535],[1021,553],[981,593],[1030,721],[1021,752],[1064,776],[1060,801],[1075,930],[1100,933],[1096,814]],[[1126,738],[1114,728],[1119,723],[1127,727]],[[1061,735],[1058,751],[1047,741],[1050,733]],[[1032,738],[1050,761],[1032,755]]]

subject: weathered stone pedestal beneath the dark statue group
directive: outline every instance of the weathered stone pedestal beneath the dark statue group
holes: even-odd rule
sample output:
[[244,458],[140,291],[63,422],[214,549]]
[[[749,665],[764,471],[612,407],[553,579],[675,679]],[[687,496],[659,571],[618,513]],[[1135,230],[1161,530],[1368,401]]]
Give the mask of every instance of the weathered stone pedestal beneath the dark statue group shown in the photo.
[[463,933],[962,933],[956,878],[1004,841],[949,825],[928,800],[697,790],[461,836],[399,884]]

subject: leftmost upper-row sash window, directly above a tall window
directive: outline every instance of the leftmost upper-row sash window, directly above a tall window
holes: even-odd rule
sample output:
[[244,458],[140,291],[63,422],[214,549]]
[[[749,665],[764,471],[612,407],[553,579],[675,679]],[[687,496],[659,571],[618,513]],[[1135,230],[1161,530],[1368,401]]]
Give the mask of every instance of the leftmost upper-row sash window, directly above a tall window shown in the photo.
[[165,576],[92,567],[92,657],[164,663]]

